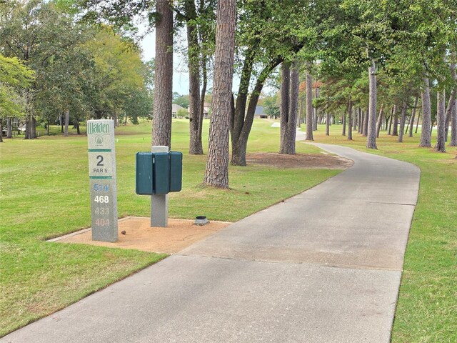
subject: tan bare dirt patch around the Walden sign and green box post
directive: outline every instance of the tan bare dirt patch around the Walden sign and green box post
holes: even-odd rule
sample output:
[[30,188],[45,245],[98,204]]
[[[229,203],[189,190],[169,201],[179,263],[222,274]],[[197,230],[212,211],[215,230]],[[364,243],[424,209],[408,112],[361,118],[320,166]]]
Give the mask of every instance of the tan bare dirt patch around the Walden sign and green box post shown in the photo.
[[[150,223],[151,219],[148,217],[119,219],[119,241],[116,243],[93,241],[90,229],[81,230],[52,241],[174,254],[231,224],[210,221],[209,224],[199,226],[194,225],[193,220],[185,219],[169,219],[168,227],[150,227]],[[125,232],[125,234],[121,232]]]

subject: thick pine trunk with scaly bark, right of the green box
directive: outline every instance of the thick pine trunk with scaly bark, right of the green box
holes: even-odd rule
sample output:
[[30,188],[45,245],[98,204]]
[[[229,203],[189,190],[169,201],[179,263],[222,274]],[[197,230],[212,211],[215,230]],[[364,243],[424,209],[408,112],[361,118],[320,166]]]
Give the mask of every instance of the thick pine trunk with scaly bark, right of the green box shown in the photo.
[[235,52],[236,0],[219,0],[216,21],[216,54],[211,102],[208,159],[204,184],[229,188],[229,126],[232,104],[233,54]]

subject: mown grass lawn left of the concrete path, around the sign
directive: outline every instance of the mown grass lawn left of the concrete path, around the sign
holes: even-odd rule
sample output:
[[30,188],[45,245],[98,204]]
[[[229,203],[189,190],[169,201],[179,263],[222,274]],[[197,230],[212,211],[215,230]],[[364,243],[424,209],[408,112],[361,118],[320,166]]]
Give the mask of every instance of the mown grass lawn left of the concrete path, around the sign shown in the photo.
[[[208,125],[205,121],[206,134]],[[53,126],[51,132],[59,129]],[[203,214],[234,222],[340,172],[231,166],[231,189],[204,188],[206,156],[189,156],[188,131],[189,121],[174,121],[171,148],[184,153],[184,177],[183,191],[170,194],[170,217]],[[45,242],[90,226],[89,166],[85,136],[39,132],[36,140],[6,139],[0,144],[0,337],[165,257]],[[256,121],[248,151],[276,152],[278,142],[278,128]],[[149,197],[135,194],[135,154],[150,149],[150,123],[116,129],[119,217],[149,215]],[[319,153],[303,143],[297,151]]]

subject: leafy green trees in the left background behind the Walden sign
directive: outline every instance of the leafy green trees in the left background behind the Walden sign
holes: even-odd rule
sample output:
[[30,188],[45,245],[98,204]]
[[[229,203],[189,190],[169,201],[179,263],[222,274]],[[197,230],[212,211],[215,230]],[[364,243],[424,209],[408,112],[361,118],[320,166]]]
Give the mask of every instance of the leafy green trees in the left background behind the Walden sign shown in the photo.
[[19,63],[23,75],[0,80],[11,94],[0,107],[6,136],[12,121],[34,139],[37,124],[49,134],[50,124],[61,123],[68,135],[69,124],[79,133],[89,118],[119,124],[151,116],[154,61],[141,61],[139,46],[112,26],[77,18],[71,1],[0,3],[0,70]]

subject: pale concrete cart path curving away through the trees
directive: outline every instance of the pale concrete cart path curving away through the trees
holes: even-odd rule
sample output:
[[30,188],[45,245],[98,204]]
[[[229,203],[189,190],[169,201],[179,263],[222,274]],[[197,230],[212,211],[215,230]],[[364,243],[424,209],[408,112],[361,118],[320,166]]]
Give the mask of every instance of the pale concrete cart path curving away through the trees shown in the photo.
[[389,342],[420,172],[316,145],[355,164],[0,342]]

